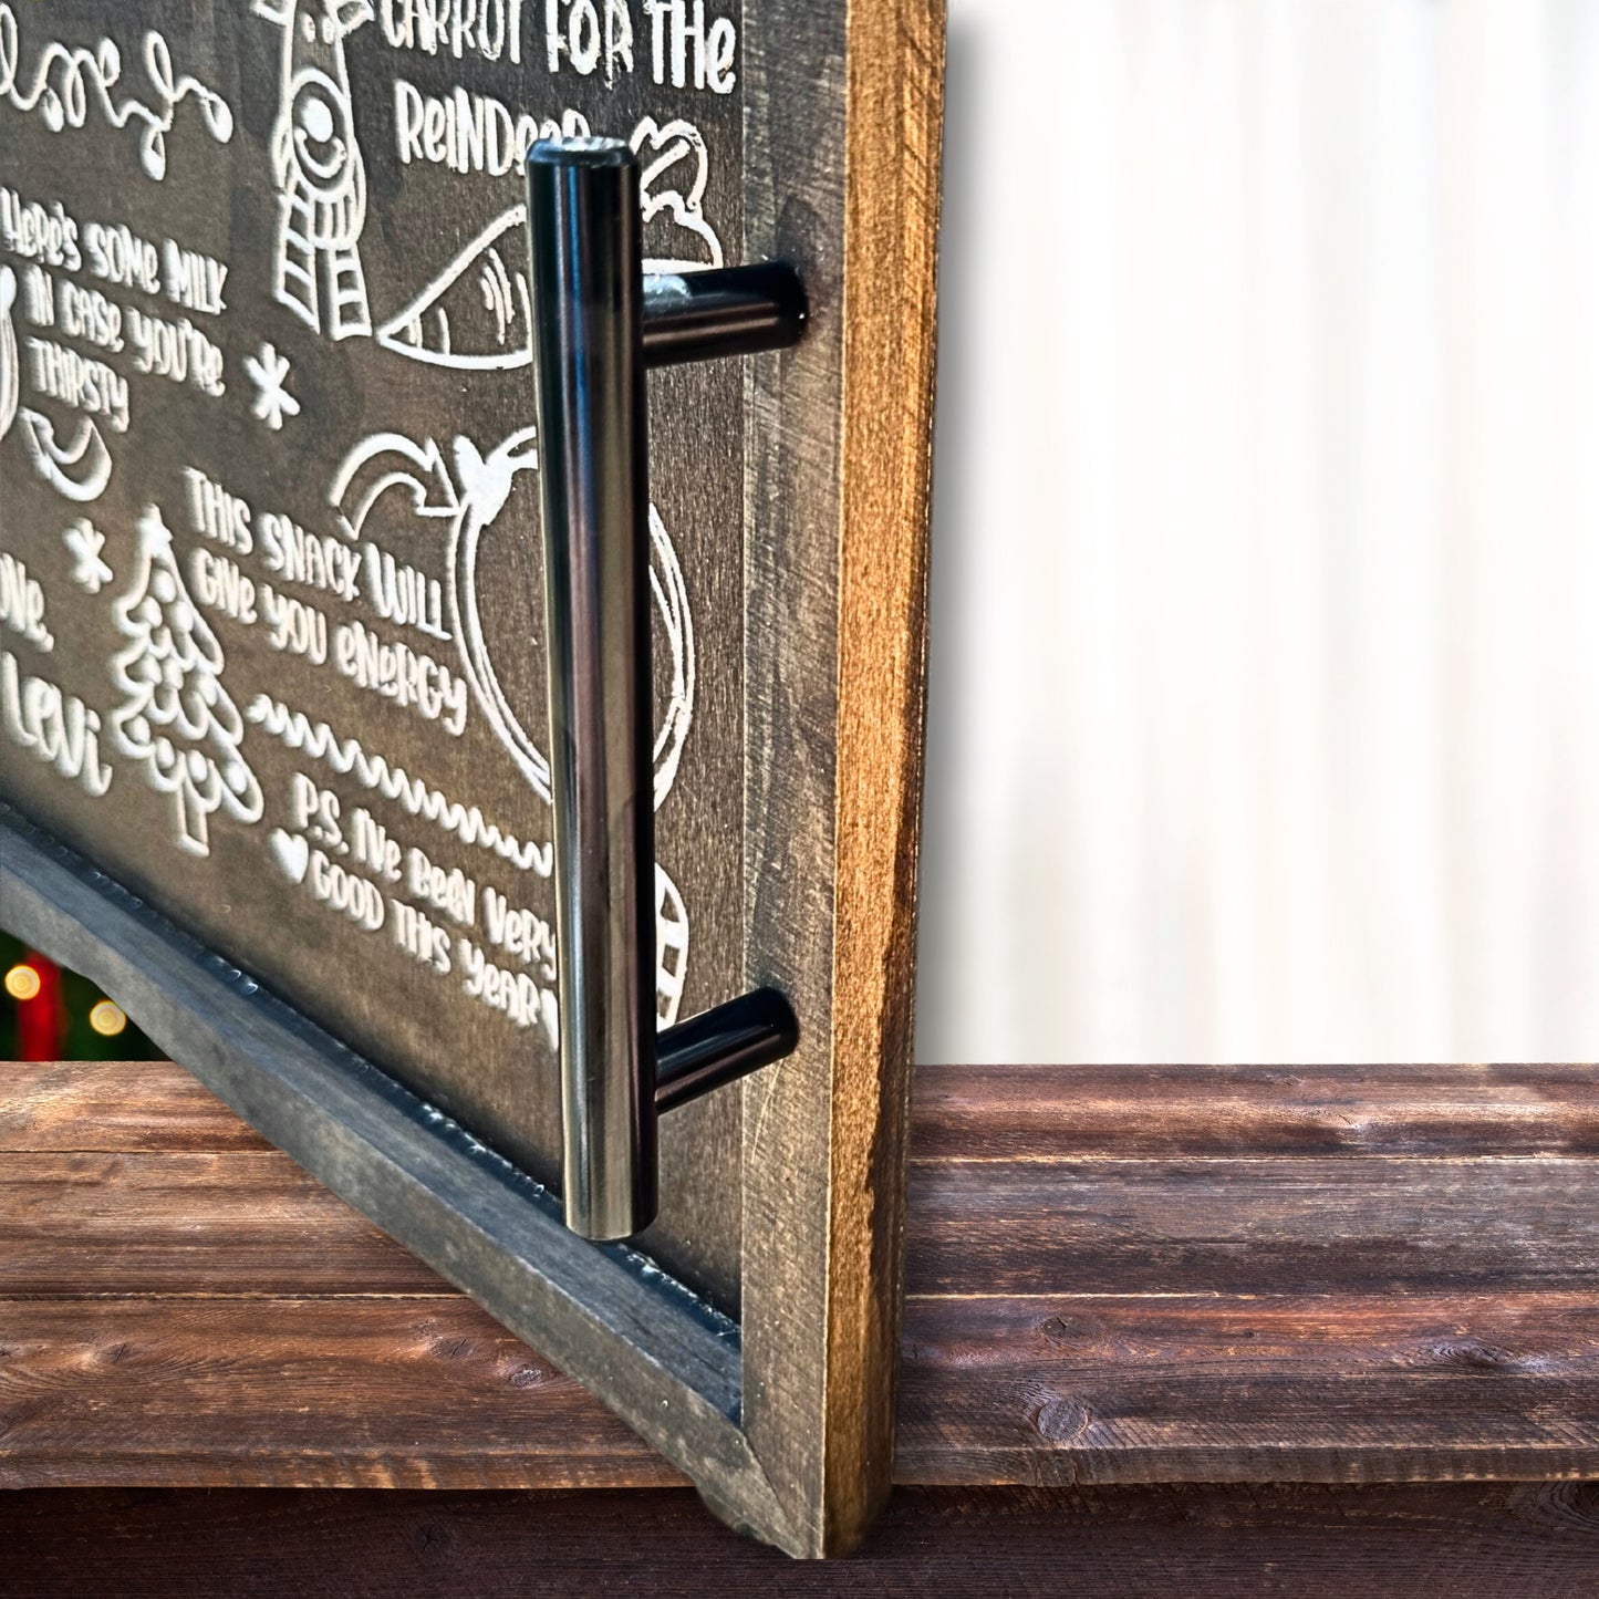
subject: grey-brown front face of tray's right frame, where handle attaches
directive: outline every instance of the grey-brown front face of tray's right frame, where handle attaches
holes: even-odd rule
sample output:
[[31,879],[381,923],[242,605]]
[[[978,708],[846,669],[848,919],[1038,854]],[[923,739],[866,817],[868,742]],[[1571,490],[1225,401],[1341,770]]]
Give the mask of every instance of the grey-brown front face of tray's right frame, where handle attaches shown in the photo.
[[846,37],[841,8],[745,14],[745,251],[800,269],[811,320],[795,350],[752,361],[747,390],[747,963],[793,998],[801,1039],[744,1089],[744,1428],[793,1545],[820,1554]]

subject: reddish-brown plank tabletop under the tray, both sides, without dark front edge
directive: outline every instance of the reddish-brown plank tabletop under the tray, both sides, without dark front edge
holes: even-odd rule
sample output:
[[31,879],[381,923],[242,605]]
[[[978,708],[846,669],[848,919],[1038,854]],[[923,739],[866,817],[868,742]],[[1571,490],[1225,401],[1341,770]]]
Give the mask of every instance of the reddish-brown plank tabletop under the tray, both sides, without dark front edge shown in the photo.
[[[923,1068],[897,1477],[1599,1476],[1599,1073]],[[165,1063],[0,1067],[0,1484],[681,1477]]]

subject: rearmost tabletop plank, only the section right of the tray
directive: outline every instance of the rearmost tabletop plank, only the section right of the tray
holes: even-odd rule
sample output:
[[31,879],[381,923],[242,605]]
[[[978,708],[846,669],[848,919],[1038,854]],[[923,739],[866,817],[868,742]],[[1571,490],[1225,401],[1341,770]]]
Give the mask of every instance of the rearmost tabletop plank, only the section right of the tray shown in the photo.
[[918,1067],[915,1159],[1599,1154],[1599,1067]]

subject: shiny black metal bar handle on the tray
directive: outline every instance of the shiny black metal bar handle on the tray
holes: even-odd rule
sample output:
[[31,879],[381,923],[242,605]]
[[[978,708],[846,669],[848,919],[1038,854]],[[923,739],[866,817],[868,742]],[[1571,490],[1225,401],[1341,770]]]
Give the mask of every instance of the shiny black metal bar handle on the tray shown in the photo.
[[792,267],[643,277],[638,161],[619,139],[528,157],[544,516],[566,1225],[656,1215],[656,1118],[792,1054],[772,988],[656,1035],[656,827],[646,366],[782,349]]

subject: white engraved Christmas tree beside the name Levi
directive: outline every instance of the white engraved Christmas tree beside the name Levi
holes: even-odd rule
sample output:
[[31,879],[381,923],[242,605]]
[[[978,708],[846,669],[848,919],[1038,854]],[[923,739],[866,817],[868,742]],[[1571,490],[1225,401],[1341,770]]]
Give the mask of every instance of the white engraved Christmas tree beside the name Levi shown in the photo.
[[184,588],[171,531],[154,505],[139,518],[138,569],[117,601],[117,628],[130,640],[112,660],[126,694],[112,716],[117,747],[176,798],[179,849],[206,855],[211,812],[225,807],[240,822],[259,822],[261,788],[238,752],[245,724],[222,688],[222,646]]

